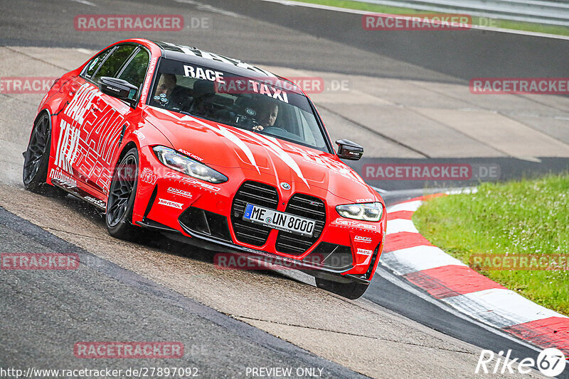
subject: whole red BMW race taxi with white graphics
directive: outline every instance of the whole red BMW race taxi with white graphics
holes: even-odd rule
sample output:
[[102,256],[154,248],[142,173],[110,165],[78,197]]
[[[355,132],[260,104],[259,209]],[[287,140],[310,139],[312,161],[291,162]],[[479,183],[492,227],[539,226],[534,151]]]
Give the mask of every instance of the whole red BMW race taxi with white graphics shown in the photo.
[[[385,235],[383,199],[341,159],[293,82],[172,43],[115,43],[41,101],[23,183],[105,210],[112,236],[154,229],[366,291]],[[53,187],[55,188],[53,188]]]

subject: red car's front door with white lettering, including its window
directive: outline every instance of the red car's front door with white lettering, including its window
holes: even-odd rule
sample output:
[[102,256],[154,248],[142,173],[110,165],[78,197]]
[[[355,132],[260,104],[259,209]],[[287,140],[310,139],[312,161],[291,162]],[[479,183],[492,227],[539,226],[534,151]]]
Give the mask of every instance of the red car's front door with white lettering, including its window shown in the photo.
[[70,84],[70,100],[60,116],[54,163],[97,197],[106,194],[112,158],[132,113],[124,101],[100,92],[98,81],[119,76],[139,50],[125,44],[97,55]]

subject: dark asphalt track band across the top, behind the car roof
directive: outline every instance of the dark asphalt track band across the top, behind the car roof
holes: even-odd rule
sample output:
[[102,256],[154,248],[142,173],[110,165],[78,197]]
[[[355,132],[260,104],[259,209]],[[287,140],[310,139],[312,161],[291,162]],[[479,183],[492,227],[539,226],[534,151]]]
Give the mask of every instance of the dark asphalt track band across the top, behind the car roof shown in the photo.
[[[92,48],[132,32],[77,32],[85,13],[182,13],[209,17],[207,28],[144,32],[257,64],[381,77],[464,82],[472,77],[563,77],[569,40],[469,30],[464,33],[363,31],[361,15],[260,0],[0,1],[0,45]],[[239,17],[239,15],[247,17]],[[186,17],[188,18],[188,17]],[[197,22],[197,21],[196,21]]]

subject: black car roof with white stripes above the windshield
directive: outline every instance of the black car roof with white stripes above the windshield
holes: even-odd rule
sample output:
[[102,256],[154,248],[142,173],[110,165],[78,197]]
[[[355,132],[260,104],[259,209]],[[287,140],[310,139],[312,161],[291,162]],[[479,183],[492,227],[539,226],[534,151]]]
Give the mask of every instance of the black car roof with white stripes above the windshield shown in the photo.
[[227,72],[232,72],[235,75],[242,75],[244,77],[250,77],[251,75],[256,78],[278,78],[288,84],[292,84],[297,92],[302,94],[302,89],[300,89],[297,84],[294,84],[291,80],[275,75],[270,71],[264,70],[255,65],[250,65],[241,60],[225,57],[216,53],[210,53],[206,50],[200,50],[198,48],[193,48],[186,45],[177,45],[176,43],[169,43],[164,41],[152,41],[158,45],[162,50],[162,56],[167,59],[180,60],[183,62],[194,63],[197,65],[206,65],[211,68],[216,68],[218,70],[223,70]]

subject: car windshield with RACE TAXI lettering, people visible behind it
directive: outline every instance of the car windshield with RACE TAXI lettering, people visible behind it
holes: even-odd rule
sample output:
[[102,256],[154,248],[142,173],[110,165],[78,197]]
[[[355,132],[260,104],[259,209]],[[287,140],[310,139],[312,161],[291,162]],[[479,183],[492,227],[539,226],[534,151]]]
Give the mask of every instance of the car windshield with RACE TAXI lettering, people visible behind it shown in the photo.
[[277,77],[162,59],[149,104],[329,151],[307,97]]

